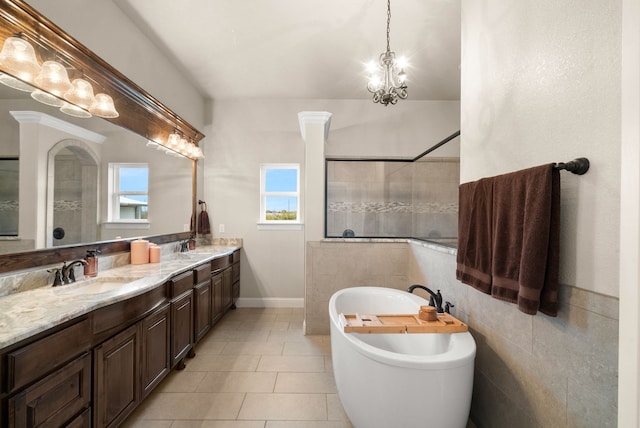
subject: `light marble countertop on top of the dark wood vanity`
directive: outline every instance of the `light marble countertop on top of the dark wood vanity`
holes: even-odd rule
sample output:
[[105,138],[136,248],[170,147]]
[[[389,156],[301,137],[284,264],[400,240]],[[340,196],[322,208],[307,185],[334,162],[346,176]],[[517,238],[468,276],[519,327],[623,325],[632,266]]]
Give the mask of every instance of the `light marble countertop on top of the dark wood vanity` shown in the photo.
[[238,248],[198,247],[188,253],[163,256],[160,263],[126,265],[73,284],[0,297],[0,349],[95,309],[143,294],[173,275]]

